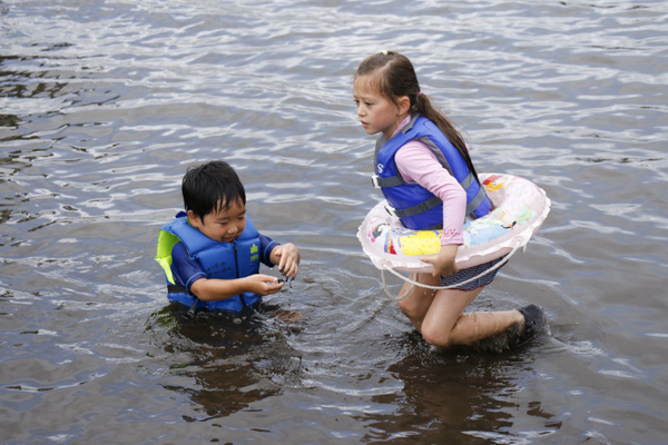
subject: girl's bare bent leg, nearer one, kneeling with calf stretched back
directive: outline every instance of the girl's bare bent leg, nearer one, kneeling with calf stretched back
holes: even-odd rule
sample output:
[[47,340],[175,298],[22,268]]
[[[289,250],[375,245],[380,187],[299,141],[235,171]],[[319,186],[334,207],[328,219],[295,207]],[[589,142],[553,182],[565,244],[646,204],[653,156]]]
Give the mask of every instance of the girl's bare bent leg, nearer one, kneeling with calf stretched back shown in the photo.
[[518,310],[463,314],[481,290],[482,287],[473,290],[438,290],[421,324],[421,333],[426,343],[436,346],[470,346],[504,333],[514,323],[524,324],[524,316]]

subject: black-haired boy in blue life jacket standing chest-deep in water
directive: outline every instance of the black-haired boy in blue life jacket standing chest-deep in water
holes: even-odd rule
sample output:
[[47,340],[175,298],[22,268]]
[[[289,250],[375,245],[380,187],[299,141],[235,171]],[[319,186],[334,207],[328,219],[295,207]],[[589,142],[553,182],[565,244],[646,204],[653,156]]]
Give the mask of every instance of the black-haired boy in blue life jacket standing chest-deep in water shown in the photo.
[[297,276],[299,250],[261,235],[246,217],[246,192],[224,161],[188,169],[181,184],[186,212],[161,227],[156,260],[167,297],[193,310],[240,312],[277,293],[283,280],[258,274],[259,263]]

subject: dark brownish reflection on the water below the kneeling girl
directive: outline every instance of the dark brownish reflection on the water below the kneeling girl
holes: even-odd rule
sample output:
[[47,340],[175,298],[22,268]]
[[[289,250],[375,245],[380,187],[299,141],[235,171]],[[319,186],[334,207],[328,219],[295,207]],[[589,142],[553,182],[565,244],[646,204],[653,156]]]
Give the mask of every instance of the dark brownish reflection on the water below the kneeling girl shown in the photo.
[[403,383],[403,390],[373,398],[396,409],[391,416],[363,416],[361,421],[370,423],[373,432],[364,442],[415,443],[420,432],[420,443],[505,443],[503,437],[511,439],[518,426],[531,425],[538,435],[561,427],[540,397],[514,397],[536,378],[530,349],[502,354],[443,349],[425,344],[415,332],[404,334],[396,345],[402,358],[387,370]]

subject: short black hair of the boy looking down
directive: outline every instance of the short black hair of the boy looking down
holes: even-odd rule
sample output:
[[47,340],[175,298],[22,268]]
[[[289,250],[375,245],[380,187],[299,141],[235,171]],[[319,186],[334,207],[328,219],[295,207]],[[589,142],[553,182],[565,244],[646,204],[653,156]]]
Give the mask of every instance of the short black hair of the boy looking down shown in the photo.
[[193,210],[203,224],[213,211],[225,210],[230,202],[246,205],[246,191],[236,171],[222,160],[188,168],[181,182],[184,207]]

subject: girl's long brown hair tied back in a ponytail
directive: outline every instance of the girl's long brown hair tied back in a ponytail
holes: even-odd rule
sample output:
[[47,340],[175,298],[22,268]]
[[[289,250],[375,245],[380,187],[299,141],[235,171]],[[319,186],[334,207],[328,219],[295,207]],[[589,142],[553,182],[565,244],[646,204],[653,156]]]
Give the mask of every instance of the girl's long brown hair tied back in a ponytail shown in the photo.
[[[355,79],[371,76],[370,79],[377,91],[393,103],[399,98],[406,96],[411,101],[411,109],[434,122],[445,135],[448,140],[462,155],[471,172],[478,177],[464,139],[454,128],[454,125],[431,102],[429,97],[421,92],[418,75],[413,63],[407,57],[394,51],[383,51],[366,58],[355,72]],[[399,105],[399,103],[397,103]]]

